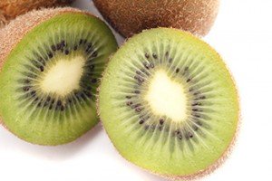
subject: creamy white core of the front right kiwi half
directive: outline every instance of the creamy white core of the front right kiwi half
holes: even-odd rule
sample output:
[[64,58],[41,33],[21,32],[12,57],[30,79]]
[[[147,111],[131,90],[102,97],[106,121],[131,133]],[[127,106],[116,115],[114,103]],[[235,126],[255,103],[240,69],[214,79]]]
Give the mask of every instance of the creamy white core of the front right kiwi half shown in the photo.
[[163,70],[151,79],[145,96],[153,113],[180,122],[187,118],[187,96],[180,82],[172,81]]

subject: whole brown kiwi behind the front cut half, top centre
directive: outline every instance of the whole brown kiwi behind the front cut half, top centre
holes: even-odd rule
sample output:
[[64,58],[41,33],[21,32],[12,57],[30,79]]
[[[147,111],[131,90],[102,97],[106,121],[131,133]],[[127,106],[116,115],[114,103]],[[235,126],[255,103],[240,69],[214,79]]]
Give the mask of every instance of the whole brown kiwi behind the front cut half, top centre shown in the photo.
[[123,36],[156,27],[179,28],[204,36],[219,11],[219,0],[93,0],[103,17]]

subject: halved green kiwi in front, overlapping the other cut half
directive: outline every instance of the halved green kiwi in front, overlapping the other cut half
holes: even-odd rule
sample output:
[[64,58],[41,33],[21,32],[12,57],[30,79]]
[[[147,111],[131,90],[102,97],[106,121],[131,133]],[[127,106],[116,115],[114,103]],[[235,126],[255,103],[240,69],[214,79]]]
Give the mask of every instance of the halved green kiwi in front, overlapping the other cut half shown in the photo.
[[121,156],[160,176],[209,174],[237,135],[238,92],[225,63],[178,29],[129,39],[103,72],[98,97],[102,124]]

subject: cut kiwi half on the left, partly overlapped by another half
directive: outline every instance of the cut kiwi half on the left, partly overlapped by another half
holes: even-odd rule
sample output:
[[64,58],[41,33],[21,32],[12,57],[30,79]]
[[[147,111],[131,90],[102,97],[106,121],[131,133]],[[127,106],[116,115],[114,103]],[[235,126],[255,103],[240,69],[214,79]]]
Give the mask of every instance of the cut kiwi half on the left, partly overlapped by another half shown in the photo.
[[0,40],[6,129],[34,144],[60,145],[96,125],[96,90],[117,50],[102,20],[68,7],[33,11],[1,29]]

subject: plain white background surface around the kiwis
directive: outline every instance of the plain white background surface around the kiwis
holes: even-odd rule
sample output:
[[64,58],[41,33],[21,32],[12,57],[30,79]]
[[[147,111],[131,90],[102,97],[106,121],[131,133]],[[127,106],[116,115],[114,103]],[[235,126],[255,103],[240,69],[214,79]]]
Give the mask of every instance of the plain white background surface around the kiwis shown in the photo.
[[[89,0],[74,6],[98,14]],[[120,36],[118,40],[122,42]],[[216,24],[204,40],[222,55],[237,81],[242,125],[227,162],[202,180],[271,181],[272,1],[222,0]],[[98,125],[75,142],[53,148],[26,143],[1,128],[0,180],[164,179],[125,161]]]

